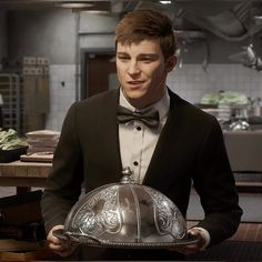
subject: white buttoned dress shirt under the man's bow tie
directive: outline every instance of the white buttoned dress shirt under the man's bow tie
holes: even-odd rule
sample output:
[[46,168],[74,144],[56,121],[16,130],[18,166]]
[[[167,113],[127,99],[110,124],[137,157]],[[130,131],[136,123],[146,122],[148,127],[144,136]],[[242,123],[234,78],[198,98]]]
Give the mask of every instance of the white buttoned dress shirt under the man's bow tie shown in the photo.
[[142,110],[132,107],[120,90],[119,104],[131,110],[139,111],[159,111],[160,124],[157,129],[150,129],[141,121],[130,121],[119,124],[119,141],[122,167],[130,167],[133,170],[133,178],[138,183],[143,182],[144,174],[152,158],[159,135],[167,122],[170,98],[168,90],[164,95],[154,104]]

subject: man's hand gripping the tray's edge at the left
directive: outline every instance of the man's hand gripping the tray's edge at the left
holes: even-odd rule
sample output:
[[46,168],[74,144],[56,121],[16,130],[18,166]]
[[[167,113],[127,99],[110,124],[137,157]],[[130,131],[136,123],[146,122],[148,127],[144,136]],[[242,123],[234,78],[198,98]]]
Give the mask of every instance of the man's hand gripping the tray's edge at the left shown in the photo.
[[62,258],[70,255],[78,246],[77,243],[71,241],[61,240],[53,235],[54,230],[61,230],[63,225],[54,225],[48,233],[48,246],[56,254],[59,254]]

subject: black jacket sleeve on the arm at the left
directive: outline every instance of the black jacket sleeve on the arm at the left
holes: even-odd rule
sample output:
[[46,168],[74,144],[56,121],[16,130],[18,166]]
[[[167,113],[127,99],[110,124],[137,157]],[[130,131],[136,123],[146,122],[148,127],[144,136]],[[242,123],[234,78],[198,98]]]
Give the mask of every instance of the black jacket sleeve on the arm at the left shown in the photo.
[[41,200],[47,232],[54,225],[64,224],[68,212],[81,193],[83,164],[75,118],[77,103],[71,105],[64,119],[53,157],[53,169]]

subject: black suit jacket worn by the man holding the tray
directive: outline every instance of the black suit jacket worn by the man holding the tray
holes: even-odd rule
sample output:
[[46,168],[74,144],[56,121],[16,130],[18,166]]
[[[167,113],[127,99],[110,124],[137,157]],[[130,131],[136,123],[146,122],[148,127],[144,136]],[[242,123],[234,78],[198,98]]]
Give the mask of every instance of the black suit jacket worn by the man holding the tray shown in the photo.
[[[143,183],[170,198],[187,216],[193,182],[205,213],[198,226],[209,231],[212,245],[236,231],[242,214],[223,133],[214,117],[169,92],[168,120]],[[112,90],[70,108],[42,199],[47,231],[64,223],[82,183],[88,192],[120,181],[118,101],[119,90]]]

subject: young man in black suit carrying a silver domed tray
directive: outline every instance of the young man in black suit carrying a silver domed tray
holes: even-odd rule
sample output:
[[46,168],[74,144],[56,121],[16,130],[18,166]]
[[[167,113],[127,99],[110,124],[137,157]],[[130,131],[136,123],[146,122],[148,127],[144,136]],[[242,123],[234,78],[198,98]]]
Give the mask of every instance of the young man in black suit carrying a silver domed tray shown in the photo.
[[[137,182],[165,194],[184,216],[193,181],[205,216],[189,231],[200,241],[175,250],[90,248],[84,259],[182,260],[231,236],[240,223],[242,211],[223,134],[215,118],[165,85],[177,63],[175,37],[167,16],[153,10],[125,14],[115,29],[115,51],[120,88],[74,103],[64,120],[42,199],[49,246],[61,256],[75,249],[52,232],[63,226],[82,183],[89,192],[119,182],[121,170],[131,167]],[[119,105],[141,113],[157,110],[159,124],[148,127],[138,119],[119,122]]]

